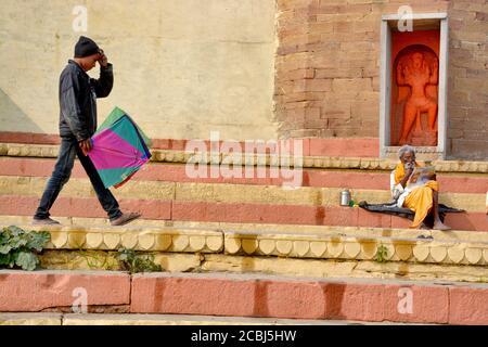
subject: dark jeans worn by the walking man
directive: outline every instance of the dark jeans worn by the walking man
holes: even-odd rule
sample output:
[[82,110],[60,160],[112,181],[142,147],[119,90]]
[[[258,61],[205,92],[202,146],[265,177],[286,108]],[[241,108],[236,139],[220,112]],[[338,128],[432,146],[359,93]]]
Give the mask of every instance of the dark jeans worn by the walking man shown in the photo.
[[121,216],[121,211],[118,207],[118,203],[110,190],[107,190],[102,180],[100,179],[99,172],[97,172],[93,163],[88,156],[85,156],[79,149],[76,139],[61,138],[60,154],[57,155],[57,160],[54,166],[54,171],[48,181],[44,193],[42,194],[39,207],[37,208],[36,219],[44,219],[50,216],[49,210],[51,209],[54,201],[60,194],[63,185],[69,180],[72,175],[73,166],[75,165],[75,155],[78,156],[81,165],[85,168],[88,177],[90,178],[91,184],[97,193],[100,204],[103,209],[108,215],[111,220]]

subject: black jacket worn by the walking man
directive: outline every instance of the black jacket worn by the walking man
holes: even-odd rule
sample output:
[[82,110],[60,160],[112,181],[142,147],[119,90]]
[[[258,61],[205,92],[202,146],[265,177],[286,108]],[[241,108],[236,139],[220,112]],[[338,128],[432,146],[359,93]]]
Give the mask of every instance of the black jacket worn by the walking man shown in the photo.
[[69,60],[60,77],[60,136],[82,141],[97,130],[97,98],[107,97],[114,85],[112,64],[100,67],[100,78],[90,78]]

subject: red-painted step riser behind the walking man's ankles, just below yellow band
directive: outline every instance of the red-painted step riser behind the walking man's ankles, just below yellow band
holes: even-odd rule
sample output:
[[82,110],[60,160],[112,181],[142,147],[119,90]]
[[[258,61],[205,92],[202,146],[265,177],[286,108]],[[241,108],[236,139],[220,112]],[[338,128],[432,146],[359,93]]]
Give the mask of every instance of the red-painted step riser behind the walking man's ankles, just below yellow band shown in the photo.
[[[0,195],[0,216],[33,216],[38,203],[36,196]],[[406,218],[351,207],[125,198],[119,203],[123,210],[142,213],[143,219],[372,228],[408,228],[411,224]],[[97,198],[59,197],[51,214],[54,218],[106,218]],[[448,214],[446,223],[457,230],[488,231],[484,213]]]

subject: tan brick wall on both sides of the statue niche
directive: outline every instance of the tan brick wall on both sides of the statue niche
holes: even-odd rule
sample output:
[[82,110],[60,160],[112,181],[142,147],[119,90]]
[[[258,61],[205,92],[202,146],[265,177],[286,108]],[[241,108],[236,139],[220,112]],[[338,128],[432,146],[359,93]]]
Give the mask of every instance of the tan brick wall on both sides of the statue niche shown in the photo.
[[378,137],[381,17],[403,4],[449,13],[451,157],[488,157],[485,0],[278,0],[281,137]]

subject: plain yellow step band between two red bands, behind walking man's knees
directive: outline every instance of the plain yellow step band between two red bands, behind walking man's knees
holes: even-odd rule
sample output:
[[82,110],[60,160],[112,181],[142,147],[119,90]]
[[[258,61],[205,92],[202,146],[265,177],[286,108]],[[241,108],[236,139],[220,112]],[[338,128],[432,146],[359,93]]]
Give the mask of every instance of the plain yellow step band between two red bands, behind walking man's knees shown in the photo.
[[[0,176],[0,195],[41,196],[48,178]],[[141,198],[177,202],[205,202],[228,204],[269,204],[339,206],[342,189],[301,187],[285,190],[277,185],[227,183],[181,183],[160,181],[129,181],[115,194],[119,198]],[[351,189],[355,201],[371,204],[390,201],[387,190]],[[88,179],[70,179],[60,196],[95,197]],[[486,211],[486,195],[441,192],[439,202],[450,207],[473,213]]]

